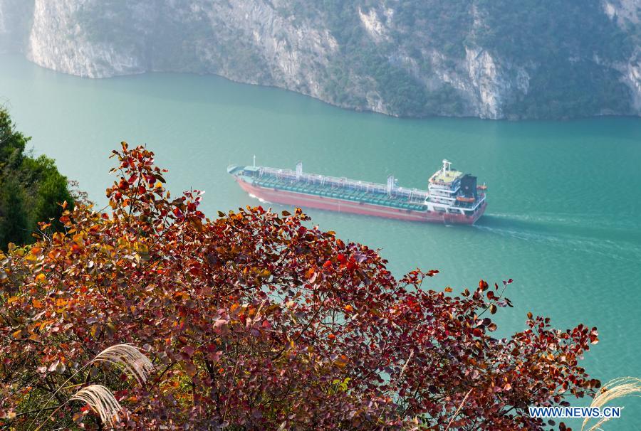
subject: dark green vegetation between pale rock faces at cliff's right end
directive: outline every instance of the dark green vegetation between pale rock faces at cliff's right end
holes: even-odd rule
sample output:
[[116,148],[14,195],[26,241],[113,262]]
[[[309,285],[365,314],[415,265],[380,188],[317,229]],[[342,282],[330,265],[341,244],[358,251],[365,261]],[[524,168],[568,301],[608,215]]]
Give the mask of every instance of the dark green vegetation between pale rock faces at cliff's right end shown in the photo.
[[611,63],[626,62],[638,35],[623,31],[598,1],[481,0],[485,23],[472,41],[524,65],[527,95],[504,108],[513,117],[566,118],[630,112],[630,90]]

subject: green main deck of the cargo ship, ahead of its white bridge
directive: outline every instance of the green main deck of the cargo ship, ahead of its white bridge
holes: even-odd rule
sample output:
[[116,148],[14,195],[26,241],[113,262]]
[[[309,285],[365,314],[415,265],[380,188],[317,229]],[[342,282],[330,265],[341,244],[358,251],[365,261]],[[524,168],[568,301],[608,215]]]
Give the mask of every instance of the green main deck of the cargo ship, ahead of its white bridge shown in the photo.
[[251,181],[256,184],[256,186],[276,188],[278,190],[289,191],[292,193],[304,193],[325,198],[390,206],[410,211],[425,211],[426,209],[422,202],[410,201],[407,199],[407,196],[395,196],[393,193],[392,196],[388,196],[387,193],[372,193],[371,191],[363,191],[358,188],[350,188],[347,186],[325,186],[320,185],[320,183],[307,181],[291,181],[289,179],[279,179],[275,176],[251,178]]

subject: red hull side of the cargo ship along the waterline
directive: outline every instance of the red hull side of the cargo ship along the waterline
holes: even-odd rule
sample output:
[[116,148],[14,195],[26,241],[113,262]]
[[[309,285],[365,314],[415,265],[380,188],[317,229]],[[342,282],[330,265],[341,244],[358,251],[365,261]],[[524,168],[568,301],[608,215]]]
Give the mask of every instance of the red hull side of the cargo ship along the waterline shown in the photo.
[[302,208],[318,208],[321,210],[338,211],[340,213],[373,215],[375,217],[395,218],[397,220],[471,225],[483,215],[486,207],[486,203],[482,203],[473,215],[441,213],[438,211],[412,211],[373,205],[371,203],[344,201],[342,199],[328,198],[325,196],[283,191],[276,188],[258,187],[246,183],[237,177],[236,181],[247,193],[271,203],[300,206]]

